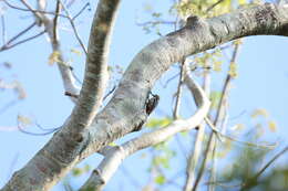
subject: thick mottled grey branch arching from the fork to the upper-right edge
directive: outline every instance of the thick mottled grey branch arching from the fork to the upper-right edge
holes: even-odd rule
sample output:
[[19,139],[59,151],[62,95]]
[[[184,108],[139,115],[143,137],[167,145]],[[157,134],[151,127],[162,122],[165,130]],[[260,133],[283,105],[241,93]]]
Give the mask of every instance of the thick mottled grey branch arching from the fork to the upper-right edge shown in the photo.
[[[150,88],[172,63],[246,35],[287,35],[284,29],[288,28],[288,7],[265,4],[207,20],[195,18],[191,21],[185,28],[151,43],[134,57],[114,97],[92,124],[97,129],[97,134],[92,135],[96,146],[93,149],[97,150],[96,142],[102,138],[107,144],[133,130],[141,120],[137,116]],[[109,124],[107,116],[111,116]],[[103,131],[103,126],[107,127],[109,134]]]

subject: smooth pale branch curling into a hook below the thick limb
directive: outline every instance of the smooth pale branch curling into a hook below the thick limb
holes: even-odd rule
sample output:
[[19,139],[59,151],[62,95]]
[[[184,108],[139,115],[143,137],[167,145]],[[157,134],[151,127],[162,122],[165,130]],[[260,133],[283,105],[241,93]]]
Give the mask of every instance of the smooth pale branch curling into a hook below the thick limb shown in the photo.
[[112,149],[110,152],[107,152],[99,168],[93,171],[92,176],[84,184],[82,189],[83,191],[89,189],[102,190],[125,158],[138,150],[161,144],[177,132],[195,128],[204,120],[204,117],[206,117],[208,114],[210,102],[196,82],[188,78],[187,83],[193,88],[193,94],[198,98],[199,109],[196,112],[196,114],[188,119],[175,120],[167,127],[157,129],[152,132],[146,132],[138,138],[135,138],[123,144],[122,146],[117,146]]

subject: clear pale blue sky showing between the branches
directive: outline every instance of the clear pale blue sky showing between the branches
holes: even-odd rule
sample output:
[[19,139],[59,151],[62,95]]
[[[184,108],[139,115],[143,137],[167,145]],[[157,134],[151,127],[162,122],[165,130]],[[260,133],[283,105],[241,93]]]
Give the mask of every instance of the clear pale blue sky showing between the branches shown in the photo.
[[[85,1],[79,1],[79,4],[73,8],[76,10],[81,4],[83,6],[84,2]],[[111,65],[119,64],[125,67],[142,47],[158,38],[155,34],[145,34],[145,32],[135,24],[136,15],[143,21],[148,19],[143,11],[143,7],[147,3],[151,3],[154,10],[158,12],[167,10],[171,6],[171,1],[124,0],[121,4],[111,45]],[[90,23],[96,3],[95,1],[91,1],[91,4],[92,11],[85,11],[83,15],[79,18],[79,31],[85,44],[88,42]],[[24,25],[32,22],[32,18],[29,17],[29,14],[24,15],[25,17],[19,18],[16,11],[8,11],[7,18],[9,18],[9,22],[7,23],[7,29],[9,36],[12,36],[16,31],[23,29]],[[64,26],[69,25],[66,21],[63,22]],[[173,29],[164,28],[162,32],[165,34],[172,30]],[[61,31],[61,39],[62,50],[66,53],[66,59],[74,60],[73,67],[75,68],[75,73],[82,78],[84,57],[83,55],[78,56],[70,52],[72,47],[80,50],[73,39],[73,33]],[[239,77],[233,83],[234,88],[232,89],[230,96],[230,116],[234,117],[245,112],[237,120],[232,120],[230,125],[235,123],[247,123],[250,119],[251,110],[255,108],[266,108],[269,113],[269,117],[274,119],[278,126],[277,132],[270,134],[267,131],[266,136],[270,140],[281,140],[282,145],[288,142],[287,42],[287,38],[280,36],[246,38],[244,45],[240,47],[239,59],[237,61],[239,64]],[[0,62],[8,61],[13,64],[12,72],[8,74],[0,68],[0,75],[16,75],[28,94],[24,100],[19,102],[3,114],[0,114],[0,127],[16,126],[18,114],[37,119],[37,121],[45,128],[61,126],[69,116],[73,104],[63,95],[62,82],[56,66],[50,66],[48,64],[50,53],[50,44],[47,42],[45,36],[0,53]],[[227,64],[224,66],[227,66]],[[167,72],[167,75],[173,74],[174,71]],[[222,75],[216,74],[214,77],[217,79],[220,78]],[[212,85],[213,88],[220,87],[220,84],[217,82],[214,82]],[[171,97],[173,94],[172,91],[175,91],[175,88],[176,81],[172,82],[166,89],[163,89],[160,84],[156,85],[154,92],[162,97],[160,109],[157,110],[171,113],[172,100],[167,97]],[[13,94],[10,92],[1,92],[0,105],[10,100],[11,96],[13,96]],[[154,115],[160,116],[161,113],[157,110]],[[30,127],[28,130],[37,131],[37,128]],[[51,136],[29,136],[19,131],[1,131],[0,187],[7,182],[11,176],[11,171],[23,167],[50,137]],[[144,173],[146,172],[148,159],[143,159],[143,161],[141,161],[143,166],[140,167],[138,158],[141,153],[128,158],[124,162],[124,167],[133,177],[141,174],[143,180],[140,182],[143,184],[147,180],[147,176]],[[83,163],[91,162],[92,167],[96,167],[99,159],[99,157],[92,156]],[[184,159],[179,157],[177,160],[182,161]],[[137,168],[135,168],[135,166]],[[76,179],[76,181],[79,180],[83,179]],[[123,171],[119,171],[106,190],[113,190],[113,188],[119,184],[123,185],[123,182],[128,183],[127,180],[123,178]],[[80,181],[74,183],[75,185],[81,185]],[[125,185],[123,187],[125,188]],[[131,189],[133,190],[134,188],[132,187]],[[61,185],[54,188],[54,191],[60,190],[63,190]]]

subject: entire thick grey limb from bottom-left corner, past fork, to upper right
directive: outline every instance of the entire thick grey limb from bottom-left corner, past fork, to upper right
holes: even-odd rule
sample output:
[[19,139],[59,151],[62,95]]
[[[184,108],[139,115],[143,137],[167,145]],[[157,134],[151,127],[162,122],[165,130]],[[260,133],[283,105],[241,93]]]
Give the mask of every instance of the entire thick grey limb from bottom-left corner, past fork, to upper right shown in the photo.
[[[64,124],[1,191],[49,190],[79,161],[133,131],[145,119],[145,102],[154,83],[183,57],[243,36],[288,35],[287,6],[264,4],[207,20],[194,17],[188,21],[185,28],[153,42],[134,57],[114,96],[89,128],[76,128],[75,124],[85,121],[83,126],[86,126],[86,119],[93,115],[83,116],[78,121],[75,116],[81,114],[74,112],[72,118],[76,123]],[[84,97],[89,95],[83,95],[80,103],[84,106],[76,110],[85,108]],[[95,103],[91,99],[94,98],[88,99],[88,103]],[[91,114],[89,110],[84,113]],[[83,130],[74,136],[73,128]]]

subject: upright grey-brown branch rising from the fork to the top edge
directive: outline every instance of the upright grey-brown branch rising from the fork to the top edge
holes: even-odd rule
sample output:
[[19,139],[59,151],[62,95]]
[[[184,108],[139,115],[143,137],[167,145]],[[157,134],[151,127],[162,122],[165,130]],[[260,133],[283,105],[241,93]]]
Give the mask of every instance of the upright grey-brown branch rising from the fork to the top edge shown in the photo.
[[101,106],[109,79],[109,46],[119,4],[120,0],[99,1],[91,26],[83,87],[69,123],[73,129],[91,125]]

